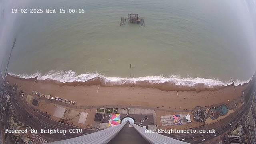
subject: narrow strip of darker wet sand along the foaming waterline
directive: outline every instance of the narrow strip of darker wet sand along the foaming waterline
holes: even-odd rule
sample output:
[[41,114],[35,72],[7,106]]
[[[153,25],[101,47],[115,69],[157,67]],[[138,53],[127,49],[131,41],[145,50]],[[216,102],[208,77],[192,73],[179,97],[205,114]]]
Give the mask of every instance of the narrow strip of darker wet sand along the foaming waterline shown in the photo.
[[[118,87],[131,87],[131,88],[135,88],[135,87],[139,87],[139,88],[157,88],[161,91],[177,91],[177,92],[184,92],[184,91],[190,91],[190,92],[201,92],[201,91],[216,91],[216,90],[223,90],[224,88],[227,87],[234,87],[234,83],[227,85],[227,86],[213,86],[212,88],[209,87],[204,87],[204,84],[195,84],[194,87],[189,87],[189,86],[181,86],[181,85],[175,85],[175,84],[170,84],[169,82],[164,82],[164,83],[158,83],[158,84],[151,84],[149,82],[149,80],[144,80],[144,81],[136,81],[136,84],[134,83],[128,83],[128,82],[122,82],[124,80],[120,80],[122,84],[113,84],[108,82],[108,80],[106,78],[102,78],[102,77],[95,77],[92,78],[90,80],[87,80],[85,82],[60,82],[58,80],[52,80],[52,79],[46,79],[46,80],[38,80],[37,77],[35,78],[20,78],[17,76],[11,76],[10,74],[7,75],[8,77],[12,77],[14,79],[18,79],[18,80],[23,80],[23,81],[36,81],[36,83],[42,83],[42,84],[55,84],[58,86],[101,86],[101,87],[114,87],[114,88],[118,88]],[[242,85],[238,85],[238,86],[245,86],[247,84],[249,84],[252,81],[253,77],[246,83],[242,84]],[[235,86],[237,87],[237,86]]]

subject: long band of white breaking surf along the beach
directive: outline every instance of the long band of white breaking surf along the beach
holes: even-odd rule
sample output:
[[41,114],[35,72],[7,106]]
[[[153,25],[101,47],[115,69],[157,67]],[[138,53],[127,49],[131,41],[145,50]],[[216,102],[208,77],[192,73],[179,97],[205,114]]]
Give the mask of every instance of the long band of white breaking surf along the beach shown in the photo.
[[[129,85],[129,84],[168,84],[168,85],[176,85],[176,86],[187,86],[190,88],[194,88],[196,86],[204,87],[204,88],[213,88],[214,86],[228,86],[232,84],[232,80],[228,82],[222,82],[218,79],[206,79],[206,78],[185,78],[180,75],[172,75],[169,77],[164,76],[146,76],[146,77],[138,77],[138,78],[120,78],[120,77],[106,77],[104,75],[98,73],[88,73],[88,74],[76,74],[76,72],[69,71],[58,71],[54,70],[48,72],[45,75],[41,75],[41,72],[37,71],[34,74],[14,74],[9,72],[10,76],[15,76],[18,78],[36,78],[38,80],[57,80],[62,83],[66,82],[86,82],[88,80],[93,80],[100,78],[100,84],[102,86],[116,86],[116,85]],[[235,86],[242,85],[244,83],[250,82],[252,78],[249,80],[238,80],[234,81]]]

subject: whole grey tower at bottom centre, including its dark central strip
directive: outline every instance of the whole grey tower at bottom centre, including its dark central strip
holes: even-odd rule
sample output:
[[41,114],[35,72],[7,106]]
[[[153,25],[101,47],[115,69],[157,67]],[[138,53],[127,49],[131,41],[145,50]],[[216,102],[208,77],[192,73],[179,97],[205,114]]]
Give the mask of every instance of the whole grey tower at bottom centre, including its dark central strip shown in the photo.
[[156,132],[148,132],[145,128],[130,121],[100,130],[92,134],[79,136],[50,144],[188,144]]

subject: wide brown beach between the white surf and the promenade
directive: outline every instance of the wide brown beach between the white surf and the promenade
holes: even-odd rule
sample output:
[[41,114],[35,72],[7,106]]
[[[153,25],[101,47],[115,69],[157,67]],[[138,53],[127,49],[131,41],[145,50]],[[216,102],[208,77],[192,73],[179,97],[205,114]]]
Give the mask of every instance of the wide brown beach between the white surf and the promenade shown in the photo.
[[[17,83],[18,90],[26,94],[33,90],[64,99],[76,101],[76,106],[135,105],[159,107],[169,110],[192,109],[228,103],[239,98],[251,82],[242,86],[234,85],[209,88],[187,88],[167,86],[167,84],[140,86],[101,86],[100,79],[87,82],[61,83],[53,80],[24,79],[7,76],[10,85]],[[36,82],[35,82],[36,80]],[[98,90],[99,88],[99,90]],[[98,90],[98,92],[97,92]],[[178,96],[176,93],[178,91]],[[182,107],[182,108],[180,108]],[[180,108],[180,109],[179,109]]]

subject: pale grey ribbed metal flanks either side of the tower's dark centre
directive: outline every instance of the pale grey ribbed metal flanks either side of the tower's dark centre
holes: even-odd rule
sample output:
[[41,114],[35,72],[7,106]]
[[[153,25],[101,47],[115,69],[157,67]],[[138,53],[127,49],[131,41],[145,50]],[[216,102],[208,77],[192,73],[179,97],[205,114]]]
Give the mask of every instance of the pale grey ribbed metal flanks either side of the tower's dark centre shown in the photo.
[[[118,134],[118,132],[120,132],[126,123],[127,122],[113,126],[111,128],[107,128],[105,130],[94,132],[92,134],[57,142],[50,142],[50,144],[107,144],[110,140],[112,140],[112,138],[116,136],[116,134]],[[158,133],[146,133],[146,129],[133,123],[130,124],[140,134],[140,136],[142,136],[150,144],[188,144],[187,142],[175,140]]]

